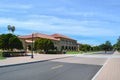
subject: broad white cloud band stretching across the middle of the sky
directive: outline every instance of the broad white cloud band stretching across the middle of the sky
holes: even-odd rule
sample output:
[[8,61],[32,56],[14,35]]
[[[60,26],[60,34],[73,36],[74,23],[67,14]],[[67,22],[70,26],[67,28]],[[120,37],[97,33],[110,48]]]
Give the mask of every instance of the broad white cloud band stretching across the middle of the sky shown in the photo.
[[[48,33],[62,33],[77,36],[118,36],[119,31],[114,31],[113,28],[104,27],[89,27],[88,21],[77,21],[71,19],[62,19],[54,16],[40,15],[38,18],[31,18],[26,21],[19,21],[12,18],[1,18],[0,25],[15,25],[17,28],[31,30],[35,32],[48,32]],[[92,21],[92,24],[96,21]],[[102,22],[97,22],[102,23]],[[23,31],[24,32],[24,31]]]

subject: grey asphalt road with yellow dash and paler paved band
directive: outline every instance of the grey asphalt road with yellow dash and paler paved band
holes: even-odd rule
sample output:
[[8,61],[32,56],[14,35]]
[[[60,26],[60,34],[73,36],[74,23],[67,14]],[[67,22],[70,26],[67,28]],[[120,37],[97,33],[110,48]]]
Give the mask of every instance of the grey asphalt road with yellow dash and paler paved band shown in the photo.
[[91,80],[105,61],[104,58],[70,57],[3,67],[0,80]]

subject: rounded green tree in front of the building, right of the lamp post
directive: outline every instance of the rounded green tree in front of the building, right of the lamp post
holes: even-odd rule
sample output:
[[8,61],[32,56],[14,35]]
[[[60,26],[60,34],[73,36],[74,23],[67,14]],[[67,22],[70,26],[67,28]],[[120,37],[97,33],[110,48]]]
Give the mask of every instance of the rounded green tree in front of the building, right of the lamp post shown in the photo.
[[44,50],[45,53],[48,53],[48,50],[54,49],[54,44],[49,39],[38,38],[35,40],[35,49],[36,50]]

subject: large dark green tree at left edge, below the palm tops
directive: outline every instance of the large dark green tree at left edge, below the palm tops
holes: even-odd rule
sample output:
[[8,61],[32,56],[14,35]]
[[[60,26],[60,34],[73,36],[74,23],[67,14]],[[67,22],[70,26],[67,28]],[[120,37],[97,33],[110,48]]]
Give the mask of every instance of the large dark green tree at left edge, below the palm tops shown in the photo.
[[23,49],[22,42],[13,34],[0,35],[0,48],[3,50]]

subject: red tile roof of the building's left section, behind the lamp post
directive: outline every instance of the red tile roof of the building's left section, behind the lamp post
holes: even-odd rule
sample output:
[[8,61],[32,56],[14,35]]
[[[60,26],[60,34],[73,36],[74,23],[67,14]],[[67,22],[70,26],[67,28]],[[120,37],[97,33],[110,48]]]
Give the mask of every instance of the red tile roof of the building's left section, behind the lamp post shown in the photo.
[[[51,39],[51,40],[59,40],[59,39],[56,39],[53,36],[46,35],[46,34],[41,34],[41,33],[34,33],[33,37],[34,38],[46,38],[46,39]],[[19,36],[19,38],[21,38],[21,39],[29,39],[29,38],[32,38],[32,34],[26,35],[26,36]]]

